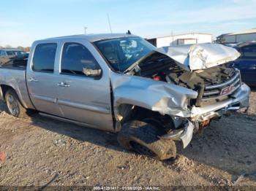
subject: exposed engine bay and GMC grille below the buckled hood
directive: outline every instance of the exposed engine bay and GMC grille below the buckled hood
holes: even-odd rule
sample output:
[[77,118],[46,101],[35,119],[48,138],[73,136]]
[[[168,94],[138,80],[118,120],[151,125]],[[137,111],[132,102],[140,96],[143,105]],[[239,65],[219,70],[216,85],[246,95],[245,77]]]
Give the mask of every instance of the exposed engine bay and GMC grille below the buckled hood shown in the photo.
[[203,106],[228,98],[240,86],[240,75],[231,63],[208,69],[186,71],[159,52],[146,58],[135,75],[187,87],[198,93],[192,105]]

